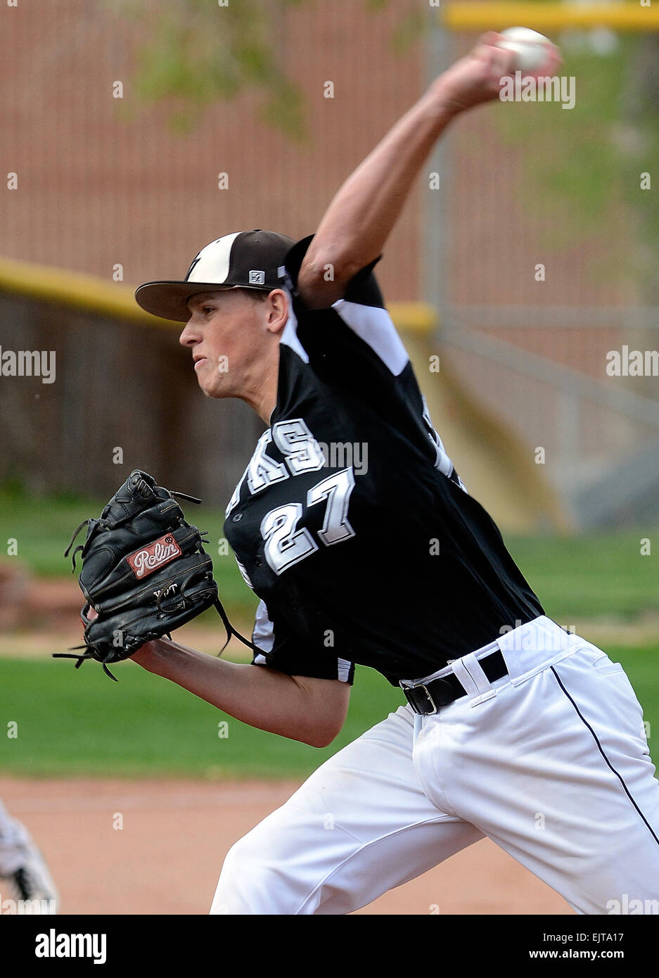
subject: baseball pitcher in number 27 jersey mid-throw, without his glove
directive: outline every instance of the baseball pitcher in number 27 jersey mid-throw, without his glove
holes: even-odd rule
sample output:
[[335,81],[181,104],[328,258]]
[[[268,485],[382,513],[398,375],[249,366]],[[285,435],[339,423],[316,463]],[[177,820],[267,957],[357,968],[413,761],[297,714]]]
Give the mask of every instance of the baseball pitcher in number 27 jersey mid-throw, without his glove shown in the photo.
[[[226,234],[185,280],[136,293],[185,324],[201,391],[241,398],[267,430],[225,523],[260,599],[253,662],[166,638],[132,658],[319,747],[343,725],[355,665],[407,699],[233,846],[213,913],[349,913],[484,835],[578,913],[659,895],[637,697],[621,665],[549,619],[467,493],[373,275],[435,142],[497,99],[512,64],[498,40],[430,85],[314,236]],[[368,464],[337,445],[366,446]]]

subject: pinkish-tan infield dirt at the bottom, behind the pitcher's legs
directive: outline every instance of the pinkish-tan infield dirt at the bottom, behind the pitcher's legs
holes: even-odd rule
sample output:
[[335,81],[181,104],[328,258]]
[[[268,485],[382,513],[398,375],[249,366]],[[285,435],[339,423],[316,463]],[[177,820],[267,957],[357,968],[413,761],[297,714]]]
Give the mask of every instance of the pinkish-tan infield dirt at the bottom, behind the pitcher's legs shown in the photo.
[[[0,797],[46,855],[63,913],[205,914],[229,847],[296,787],[295,781],[4,777]],[[113,827],[120,822],[123,827]],[[485,839],[358,912],[572,911]]]

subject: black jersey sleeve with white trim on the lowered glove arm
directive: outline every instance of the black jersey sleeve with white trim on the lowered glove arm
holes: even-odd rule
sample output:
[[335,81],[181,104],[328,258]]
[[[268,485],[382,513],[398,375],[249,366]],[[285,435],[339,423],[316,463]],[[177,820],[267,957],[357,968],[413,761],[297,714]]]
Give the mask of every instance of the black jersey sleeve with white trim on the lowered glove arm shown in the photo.
[[271,666],[287,676],[309,676],[315,679],[337,679],[352,686],[355,664],[329,654],[329,649],[314,649],[296,638],[284,619],[276,623],[267,605],[260,600],[256,608],[251,641],[259,648],[252,665]]

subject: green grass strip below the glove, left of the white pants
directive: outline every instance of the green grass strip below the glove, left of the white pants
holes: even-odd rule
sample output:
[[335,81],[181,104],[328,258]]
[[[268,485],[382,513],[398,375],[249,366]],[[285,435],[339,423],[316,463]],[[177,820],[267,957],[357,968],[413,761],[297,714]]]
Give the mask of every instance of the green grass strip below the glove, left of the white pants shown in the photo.
[[[132,662],[119,664],[115,675],[116,684],[97,663],[74,670],[66,660],[0,659],[0,771],[34,777],[306,776],[404,702],[373,670],[358,670],[343,731],[319,750],[248,727]],[[12,721],[16,739],[5,734]],[[227,737],[218,735],[223,722]]]

